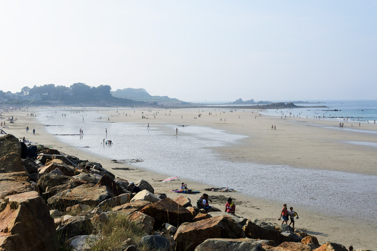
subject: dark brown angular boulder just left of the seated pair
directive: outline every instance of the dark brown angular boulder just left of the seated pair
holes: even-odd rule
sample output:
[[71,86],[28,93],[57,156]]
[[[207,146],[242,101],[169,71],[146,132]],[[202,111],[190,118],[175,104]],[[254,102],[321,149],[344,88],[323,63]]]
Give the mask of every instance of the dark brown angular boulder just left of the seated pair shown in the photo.
[[156,203],[149,204],[141,209],[140,212],[145,213],[155,219],[155,230],[159,229],[166,222],[178,227],[179,224],[182,224],[183,222],[192,221],[192,214],[190,211],[179,206],[170,198],[162,199]]

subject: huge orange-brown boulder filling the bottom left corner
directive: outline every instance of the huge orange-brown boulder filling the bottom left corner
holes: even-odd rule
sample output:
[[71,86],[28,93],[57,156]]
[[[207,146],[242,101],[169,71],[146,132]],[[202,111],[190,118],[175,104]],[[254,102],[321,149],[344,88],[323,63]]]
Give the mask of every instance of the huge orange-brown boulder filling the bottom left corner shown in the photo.
[[7,196],[0,204],[0,250],[58,250],[54,219],[37,192]]

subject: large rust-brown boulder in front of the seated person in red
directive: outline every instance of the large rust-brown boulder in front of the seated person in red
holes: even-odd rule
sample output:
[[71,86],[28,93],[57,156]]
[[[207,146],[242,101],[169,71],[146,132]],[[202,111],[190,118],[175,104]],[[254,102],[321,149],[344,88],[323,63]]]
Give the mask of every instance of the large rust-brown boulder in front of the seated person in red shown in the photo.
[[244,238],[242,227],[229,216],[216,216],[202,221],[183,223],[174,235],[178,250],[192,251],[211,238]]

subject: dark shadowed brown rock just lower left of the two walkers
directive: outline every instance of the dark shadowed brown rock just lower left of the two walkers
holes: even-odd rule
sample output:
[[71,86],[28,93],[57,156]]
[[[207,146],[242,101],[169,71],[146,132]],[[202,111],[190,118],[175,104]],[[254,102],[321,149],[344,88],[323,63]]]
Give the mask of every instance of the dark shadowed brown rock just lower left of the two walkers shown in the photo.
[[287,241],[287,237],[280,234],[279,231],[262,228],[250,220],[246,222],[243,229],[246,237],[250,239],[273,240],[277,245]]

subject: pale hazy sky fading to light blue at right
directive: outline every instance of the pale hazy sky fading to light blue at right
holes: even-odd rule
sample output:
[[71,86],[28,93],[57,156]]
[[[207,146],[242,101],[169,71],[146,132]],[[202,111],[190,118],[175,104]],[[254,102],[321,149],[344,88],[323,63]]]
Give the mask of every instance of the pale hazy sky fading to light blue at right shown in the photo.
[[377,1],[3,1],[0,90],[377,99]]

